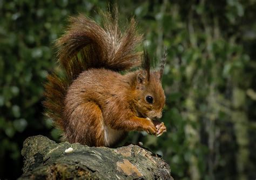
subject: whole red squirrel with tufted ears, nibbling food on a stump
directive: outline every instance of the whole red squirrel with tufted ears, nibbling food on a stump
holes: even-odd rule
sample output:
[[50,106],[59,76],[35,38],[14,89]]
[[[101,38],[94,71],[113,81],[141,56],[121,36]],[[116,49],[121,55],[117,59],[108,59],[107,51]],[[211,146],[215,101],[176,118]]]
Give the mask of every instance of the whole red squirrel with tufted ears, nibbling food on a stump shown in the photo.
[[165,105],[161,77],[166,54],[160,70],[152,71],[147,52],[136,51],[143,39],[136,21],[132,18],[122,33],[117,15],[102,16],[103,26],[83,15],[71,17],[57,40],[63,75],[48,76],[46,115],[70,143],[113,147],[129,131],[159,136],[166,132],[158,121]]

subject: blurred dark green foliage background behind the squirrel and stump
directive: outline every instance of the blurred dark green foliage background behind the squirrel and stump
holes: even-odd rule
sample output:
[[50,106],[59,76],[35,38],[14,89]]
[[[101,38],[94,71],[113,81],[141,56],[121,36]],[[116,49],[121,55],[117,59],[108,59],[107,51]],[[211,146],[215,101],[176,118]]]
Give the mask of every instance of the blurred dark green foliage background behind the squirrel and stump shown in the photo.
[[[97,0],[0,0],[0,178],[22,174],[31,135],[58,141],[43,115],[43,84],[57,68],[53,42],[70,15],[100,21]],[[163,86],[168,132],[131,133],[170,164],[174,179],[256,178],[256,2],[123,1],[151,56],[168,49]]]

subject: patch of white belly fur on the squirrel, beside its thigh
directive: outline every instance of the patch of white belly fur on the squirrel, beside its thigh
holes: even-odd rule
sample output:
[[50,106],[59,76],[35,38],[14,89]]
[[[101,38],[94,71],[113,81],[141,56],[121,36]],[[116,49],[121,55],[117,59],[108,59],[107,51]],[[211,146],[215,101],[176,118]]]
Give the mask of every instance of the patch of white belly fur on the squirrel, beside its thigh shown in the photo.
[[116,143],[122,136],[124,135],[124,131],[112,129],[108,126],[104,127],[104,141],[105,146],[111,146]]

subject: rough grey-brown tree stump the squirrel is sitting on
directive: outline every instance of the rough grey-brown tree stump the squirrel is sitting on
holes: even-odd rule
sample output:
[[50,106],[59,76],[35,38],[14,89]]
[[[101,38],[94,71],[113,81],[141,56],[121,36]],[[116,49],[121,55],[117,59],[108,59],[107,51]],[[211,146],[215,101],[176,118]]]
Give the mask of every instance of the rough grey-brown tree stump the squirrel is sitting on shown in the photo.
[[88,147],[38,135],[24,141],[22,156],[19,179],[172,179],[166,162],[136,145]]

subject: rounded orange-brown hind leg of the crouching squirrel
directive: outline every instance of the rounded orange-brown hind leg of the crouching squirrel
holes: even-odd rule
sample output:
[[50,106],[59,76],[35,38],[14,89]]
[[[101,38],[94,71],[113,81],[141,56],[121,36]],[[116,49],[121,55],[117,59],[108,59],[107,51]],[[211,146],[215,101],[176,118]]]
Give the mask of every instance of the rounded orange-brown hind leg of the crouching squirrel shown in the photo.
[[78,105],[72,111],[69,122],[66,140],[87,146],[104,146],[104,120],[97,104],[86,102]]

